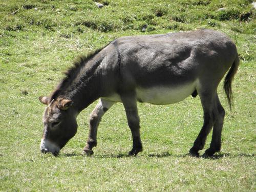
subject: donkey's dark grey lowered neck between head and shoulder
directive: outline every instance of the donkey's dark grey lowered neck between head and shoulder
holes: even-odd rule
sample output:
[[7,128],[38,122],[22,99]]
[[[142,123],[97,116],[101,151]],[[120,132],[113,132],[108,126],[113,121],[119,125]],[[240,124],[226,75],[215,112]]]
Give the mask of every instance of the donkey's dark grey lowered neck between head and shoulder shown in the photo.
[[101,71],[99,69],[103,56],[94,56],[76,69],[60,83],[57,96],[71,99],[73,108],[80,113],[100,97]]

